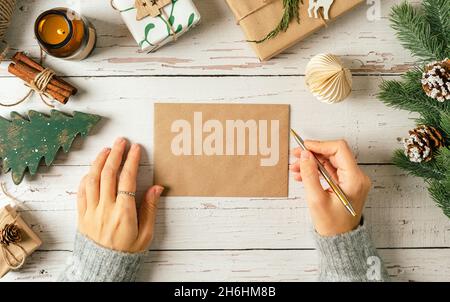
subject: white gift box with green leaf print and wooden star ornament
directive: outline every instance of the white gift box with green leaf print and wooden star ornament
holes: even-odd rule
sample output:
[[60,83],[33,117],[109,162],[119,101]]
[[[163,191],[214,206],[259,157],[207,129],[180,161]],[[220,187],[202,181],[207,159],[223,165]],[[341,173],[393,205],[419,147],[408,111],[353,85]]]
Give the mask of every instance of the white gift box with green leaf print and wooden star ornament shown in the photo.
[[156,50],[200,22],[192,0],[112,0],[139,47]]

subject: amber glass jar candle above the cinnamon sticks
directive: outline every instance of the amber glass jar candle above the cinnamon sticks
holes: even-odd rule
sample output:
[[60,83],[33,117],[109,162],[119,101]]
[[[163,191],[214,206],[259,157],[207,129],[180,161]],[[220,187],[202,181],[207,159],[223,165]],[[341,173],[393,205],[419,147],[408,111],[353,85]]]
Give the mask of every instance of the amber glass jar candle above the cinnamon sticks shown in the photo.
[[34,24],[41,48],[51,56],[83,60],[95,48],[96,32],[83,16],[59,7],[43,12]]

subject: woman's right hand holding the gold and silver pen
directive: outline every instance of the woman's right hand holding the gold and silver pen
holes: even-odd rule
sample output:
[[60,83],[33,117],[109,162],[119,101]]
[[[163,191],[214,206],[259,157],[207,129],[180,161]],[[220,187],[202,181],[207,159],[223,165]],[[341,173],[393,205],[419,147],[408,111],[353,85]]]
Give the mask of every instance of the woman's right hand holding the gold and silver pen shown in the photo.
[[308,150],[314,152],[334,181],[339,184],[357,213],[357,216],[353,217],[331,189],[323,189],[312,153],[296,148],[293,153],[298,160],[290,169],[294,172],[295,180],[303,182],[305,186],[306,199],[316,231],[322,236],[334,236],[356,229],[361,222],[364,203],[370,191],[369,177],[358,167],[344,140],[306,141],[305,145]]

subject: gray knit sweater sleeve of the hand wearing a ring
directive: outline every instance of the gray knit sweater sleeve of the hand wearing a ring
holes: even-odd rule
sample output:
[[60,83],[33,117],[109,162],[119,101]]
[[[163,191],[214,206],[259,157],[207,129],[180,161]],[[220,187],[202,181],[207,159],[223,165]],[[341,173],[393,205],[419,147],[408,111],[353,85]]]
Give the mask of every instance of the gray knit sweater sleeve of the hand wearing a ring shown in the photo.
[[58,281],[131,282],[136,279],[143,257],[144,253],[122,253],[101,247],[77,233],[72,256]]

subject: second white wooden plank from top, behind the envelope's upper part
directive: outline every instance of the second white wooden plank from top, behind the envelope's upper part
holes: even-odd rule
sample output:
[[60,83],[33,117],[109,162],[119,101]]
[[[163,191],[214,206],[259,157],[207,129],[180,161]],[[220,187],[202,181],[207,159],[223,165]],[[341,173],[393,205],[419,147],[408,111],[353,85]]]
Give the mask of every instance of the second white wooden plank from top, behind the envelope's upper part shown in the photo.
[[[77,141],[73,151],[59,156],[58,164],[88,165],[98,150],[118,135],[141,143],[151,161],[153,103],[209,102],[290,104],[292,127],[305,138],[347,139],[360,163],[389,163],[399,138],[413,126],[412,115],[393,110],[377,100],[382,77],[354,79],[354,92],[343,103],[320,103],[306,89],[303,76],[285,77],[83,77],[69,78],[80,89],[63,111],[79,110],[102,115],[92,137]],[[0,99],[13,100],[26,89],[17,79],[2,79]],[[49,111],[39,98],[14,107]],[[126,108],[126,113],[124,112]],[[10,108],[0,108],[7,116]],[[295,144],[292,142],[292,147]]]

